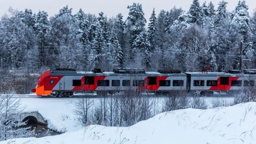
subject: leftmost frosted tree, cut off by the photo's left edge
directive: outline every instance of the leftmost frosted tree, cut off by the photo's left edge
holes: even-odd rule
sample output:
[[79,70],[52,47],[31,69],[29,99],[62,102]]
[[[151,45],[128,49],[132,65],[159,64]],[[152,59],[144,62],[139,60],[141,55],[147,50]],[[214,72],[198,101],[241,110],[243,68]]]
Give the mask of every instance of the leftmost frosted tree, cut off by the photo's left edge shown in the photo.
[[[11,69],[19,69],[23,64],[28,41],[26,34],[26,25],[22,22],[18,11],[9,9],[10,16],[4,15],[0,27],[0,40],[2,41],[2,58],[4,63]],[[2,64],[4,64],[2,63]]]

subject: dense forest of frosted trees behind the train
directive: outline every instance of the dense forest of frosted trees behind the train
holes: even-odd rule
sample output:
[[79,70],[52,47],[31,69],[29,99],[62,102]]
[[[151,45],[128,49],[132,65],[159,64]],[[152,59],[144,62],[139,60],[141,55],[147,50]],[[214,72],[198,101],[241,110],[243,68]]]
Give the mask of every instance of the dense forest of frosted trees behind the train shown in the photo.
[[[256,68],[256,12],[248,14],[244,0],[227,12],[222,0],[213,3],[193,0],[188,12],[181,8],[151,14],[148,23],[142,5],[128,6],[128,17],[114,18],[100,12],[72,14],[68,6],[49,17],[47,12],[15,11],[0,19],[0,69],[40,72],[48,68],[90,71],[114,67],[180,69],[225,72]],[[253,42],[253,45],[247,45]]]

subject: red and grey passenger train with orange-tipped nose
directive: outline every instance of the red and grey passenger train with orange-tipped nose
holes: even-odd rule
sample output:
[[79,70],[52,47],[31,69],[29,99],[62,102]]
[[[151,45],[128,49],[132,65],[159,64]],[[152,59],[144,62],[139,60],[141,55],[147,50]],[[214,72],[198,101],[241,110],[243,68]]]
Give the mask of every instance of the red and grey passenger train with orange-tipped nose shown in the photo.
[[228,72],[181,72],[114,68],[113,72],[77,72],[74,69],[49,69],[38,78],[35,92],[38,96],[72,97],[74,93],[107,94],[129,90],[152,93],[184,91],[213,94],[256,90],[256,70],[230,70]]

